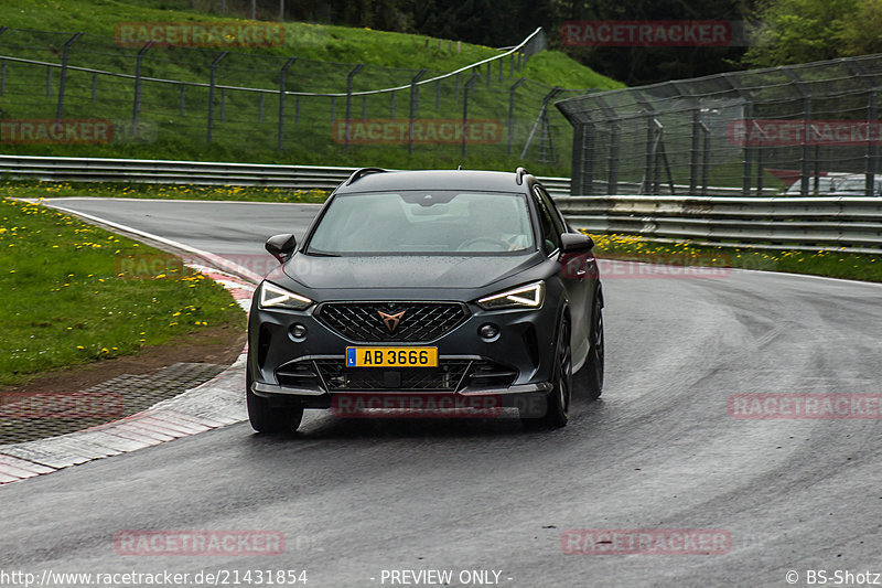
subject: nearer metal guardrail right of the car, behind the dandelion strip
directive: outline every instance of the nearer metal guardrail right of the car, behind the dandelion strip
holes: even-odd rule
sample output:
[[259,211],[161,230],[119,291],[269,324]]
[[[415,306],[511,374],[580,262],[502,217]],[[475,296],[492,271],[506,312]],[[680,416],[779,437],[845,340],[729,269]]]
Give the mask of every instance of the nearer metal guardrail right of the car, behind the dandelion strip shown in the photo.
[[557,196],[573,226],[650,240],[882,253],[882,197]]

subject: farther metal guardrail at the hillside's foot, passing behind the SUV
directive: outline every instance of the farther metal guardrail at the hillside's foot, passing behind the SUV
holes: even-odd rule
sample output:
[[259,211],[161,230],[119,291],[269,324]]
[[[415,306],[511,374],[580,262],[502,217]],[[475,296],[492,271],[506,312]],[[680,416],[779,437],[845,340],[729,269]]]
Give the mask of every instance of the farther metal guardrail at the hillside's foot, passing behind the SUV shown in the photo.
[[[152,182],[265,185],[333,190],[357,168],[279,165],[153,159],[0,156],[0,174],[52,182]],[[540,178],[553,196],[570,192],[569,178]]]

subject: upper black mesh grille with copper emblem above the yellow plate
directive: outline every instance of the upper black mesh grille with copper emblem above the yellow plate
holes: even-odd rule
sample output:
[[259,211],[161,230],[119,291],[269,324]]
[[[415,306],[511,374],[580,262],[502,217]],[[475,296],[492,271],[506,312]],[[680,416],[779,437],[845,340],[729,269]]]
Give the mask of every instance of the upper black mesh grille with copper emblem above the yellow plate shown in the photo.
[[327,302],[316,319],[354,343],[434,341],[467,317],[458,302]]

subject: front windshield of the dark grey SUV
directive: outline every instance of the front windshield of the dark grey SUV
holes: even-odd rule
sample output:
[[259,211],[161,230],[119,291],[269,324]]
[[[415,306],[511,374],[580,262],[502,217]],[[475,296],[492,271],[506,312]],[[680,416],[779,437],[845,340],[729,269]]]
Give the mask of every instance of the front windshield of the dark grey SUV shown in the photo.
[[535,249],[527,200],[501,192],[337,194],[313,255],[516,254]]

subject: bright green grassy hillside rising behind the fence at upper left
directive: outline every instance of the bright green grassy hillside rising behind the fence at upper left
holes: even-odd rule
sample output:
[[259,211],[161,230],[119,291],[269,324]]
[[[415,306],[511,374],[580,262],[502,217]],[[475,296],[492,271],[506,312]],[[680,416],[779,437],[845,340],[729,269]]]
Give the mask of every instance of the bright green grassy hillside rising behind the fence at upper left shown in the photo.
[[[143,56],[143,76],[190,85],[143,81],[139,131],[133,133],[136,84],[131,76],[136,72],[138,47],[120,46],[115,42],[115,31],[120,23],[237,22],[260,25],[254,21],[235,21],[232,17],[162,9],[169,4],[189,6],[189,2],[45,0],[22,4],[20,1],[0,0],[0,25],[10,28],[0,34],[0,55],[58,64],[62,47],[71,34],[87,33],[71,45],[69,65],[100,73],[94,75],[68,70],[63,117],[107,119],[115,128],[111,143],[97,145],[17,142],[10,140],[7,128],[2,137],[3,152],[400,168],[450,167],[455,163],[473,168],[509,168],[521,162],[519,156],[534,131],[542,97],[552,87],[573,88],[559,97],[573,96],[592,87],[621,87],[615,81],[564,54],[549,51],[534,55],[523,68],[519,60],[506,58],[502,63],[494,62],[490,71],[482,66],[456,78],[420,86],[415,118],[428,120],[427,128],[434,128],[443,121],[462,120],[463,95],[466,83],[472,81],[469,119],[490,121],[493,131],[467,145],[464,158],[460,140],[433,142],[431,137],[419,137],[412,153],[400,137],[392,142],[356,140],[346,147],[340,133],[341,121],[346,117],[345,97],[303,96],[299,99],[287,96],[280,151],[280,71],[292,56],[297,60],[287,73],[287,92],[345,93],[347,75],[356,64],[363,64],[364,67],[353,77],[353,90],[357,93],[407,86],[421,68],[427,70],[422,75],[422,79],[427,79],[503,53],[464,43],[458,46],[455,42],[422,35],[288,22],[283,24],[283,43],[235,47],[218,63],[216,84],[230,89],[215,89],[211,143],[207,141],[209,88],[206,86],[211,79],[211,63],[222,50],[151,47]],[[513,43],[517,41],[513,40]],[[60,72],[57,67],[6,61],[0,116],[13,121],[54,118],[58,109]],[[111,73],[130,77],[108,75]],[[474,74],[477,75],[472,78]],[[509,88],[521,77],[526,79],[515,93],[509,148]],[[364,118],[365,125],[379,121],[387,127],[392,120],[400,124],[402,118],[409,118],[410,90],[406,88],[394,94],[395,97],[391,93],[353,97],[349,120]],[[563,173],[569,167],[570,127],[553,107],[548,115],[546,140],[541,140],[541,126],[536,126],[524,160],[534,169]]]

